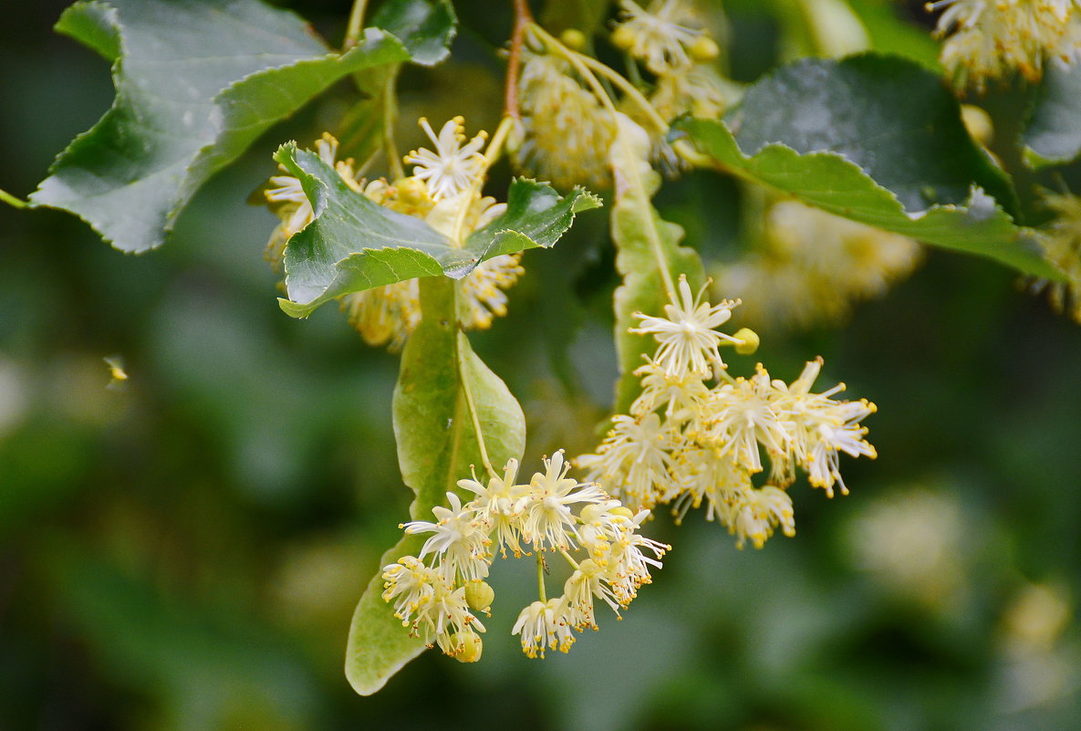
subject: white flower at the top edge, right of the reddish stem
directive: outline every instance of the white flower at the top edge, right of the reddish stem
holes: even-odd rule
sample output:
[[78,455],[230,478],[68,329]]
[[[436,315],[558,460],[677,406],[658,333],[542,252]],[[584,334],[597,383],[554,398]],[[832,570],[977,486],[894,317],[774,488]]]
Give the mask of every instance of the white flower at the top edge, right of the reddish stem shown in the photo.
[[658,75],[691,64],[688,50],[702,31],[686,25],[694,15],[682,0],[653,0],[646,9],[620,0],[619,8],[624,19],[612,36],[617,46]]

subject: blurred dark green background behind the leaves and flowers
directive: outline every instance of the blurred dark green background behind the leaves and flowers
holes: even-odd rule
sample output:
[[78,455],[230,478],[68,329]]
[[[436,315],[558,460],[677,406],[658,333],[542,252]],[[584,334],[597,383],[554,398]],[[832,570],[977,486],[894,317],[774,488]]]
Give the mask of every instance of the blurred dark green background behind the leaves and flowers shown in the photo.
[[[52,34],[65,4],[8,3],[0,23],[0,187],[19,196],[112,99],[107,65]],[[332,39],[349,6],[278,4]],[[406,72],[403,120],[492,129],[509,15],[491,5],[457,3],[455,62]],[[753,5],[730,3],[743,80],[777,35]],[[275,218],[245,204],[277,145],[333,130],[349,92],[271,130],[147,255],[0,208],[0,730],[1078,728],[1081,330],[1013,273],[939,251],[850,321],[763,332],[733,364],[790,380],[822,355],[823,384],[880,408],[880,457],[843,461],[852,495],[793,488],[797,537],[739,551],[700,515],[660,515],[649,533],[675,550],[654,584],[543,662],[509,636],[531,572],[497,563],[482,662],[425,653],[355,695],[349,617],[410,500],[397,358],[333,308],[279,310]],[[658,203],[717,257],[733,195],[694,174]],[[510,316],[473,337],[525,408],[528,468],[588,450],[609,408],[605,227],[584,214],[530,252]]]

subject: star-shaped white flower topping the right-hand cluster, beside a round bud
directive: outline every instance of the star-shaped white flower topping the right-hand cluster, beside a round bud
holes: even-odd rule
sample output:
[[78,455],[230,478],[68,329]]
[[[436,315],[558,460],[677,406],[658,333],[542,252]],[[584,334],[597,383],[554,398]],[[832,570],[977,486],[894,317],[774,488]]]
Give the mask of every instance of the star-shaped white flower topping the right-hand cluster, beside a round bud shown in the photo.
[[692,297],[686,277],[680,275],[679,296],[673,293],[671,304],[665,305],[667,318],[635,313],[635,317],[642,321],[642,327],[631,328],[630,332],[653,334],[660,343],[653,360],[668,375],[689,372],[709,375],[711,363],[724,367],[717,346],[722,341],[732,344],[742,342],[713,330],[732,317],[732,308],[739,303],[725,300],[718,305],[710,305],[703,302],[705,292],[706,288],[703,287],[698,296]]

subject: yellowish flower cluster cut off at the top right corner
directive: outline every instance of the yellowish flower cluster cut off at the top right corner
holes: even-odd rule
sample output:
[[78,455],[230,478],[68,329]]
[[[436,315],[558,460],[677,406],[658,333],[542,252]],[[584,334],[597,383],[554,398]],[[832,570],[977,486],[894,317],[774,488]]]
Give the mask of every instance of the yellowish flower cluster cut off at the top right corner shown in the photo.
[[959,87],[982,89],[988,79],[1019,71],[1038,81],[1053,58],[1075,63],[1081,53],[1078,0],[938,0],[935,34],[944,38],[943,66]]

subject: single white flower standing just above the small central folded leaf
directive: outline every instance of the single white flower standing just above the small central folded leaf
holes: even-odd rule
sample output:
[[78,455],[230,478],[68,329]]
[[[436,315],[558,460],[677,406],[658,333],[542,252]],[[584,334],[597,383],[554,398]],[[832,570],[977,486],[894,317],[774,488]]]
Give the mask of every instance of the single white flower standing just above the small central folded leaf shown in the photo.
[[480,149],[488,139],[483,130],[466,141],[463,117],[454,117],[439,131],[437,136],[428,120],[421,118],[419,123],[436,146],[436,151],[421,148],[405,156],[405,162],[416,165],[413,176],[428,184],[428,190],[435,200],[453,197],[463,190],[468,190],[484,171],[484,156]]

